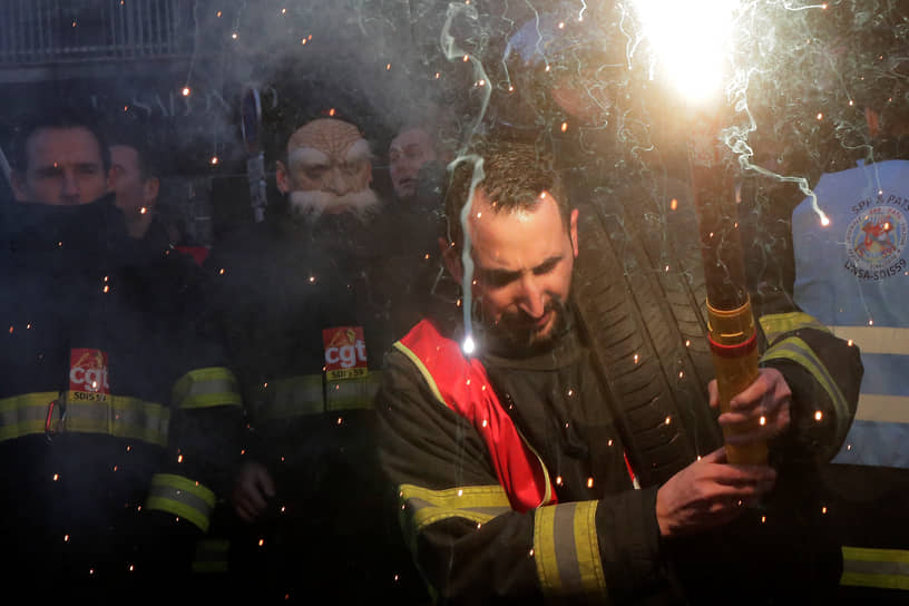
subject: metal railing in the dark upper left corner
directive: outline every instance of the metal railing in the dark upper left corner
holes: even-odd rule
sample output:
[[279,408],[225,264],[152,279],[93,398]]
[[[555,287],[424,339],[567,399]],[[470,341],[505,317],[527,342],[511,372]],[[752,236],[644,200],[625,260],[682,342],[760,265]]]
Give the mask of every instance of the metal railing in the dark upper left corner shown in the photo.
[[0,0],[0,65],[174,56],[192,45],[179,0]]

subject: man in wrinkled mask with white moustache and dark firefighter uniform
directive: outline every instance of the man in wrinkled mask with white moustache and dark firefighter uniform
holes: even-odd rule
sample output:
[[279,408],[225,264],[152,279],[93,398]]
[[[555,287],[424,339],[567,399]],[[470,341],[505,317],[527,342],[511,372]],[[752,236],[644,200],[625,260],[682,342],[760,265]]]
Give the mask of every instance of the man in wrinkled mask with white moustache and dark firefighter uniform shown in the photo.
[[206,261],[247,404],[233,565],[257,599],[407,602],[422,590],[374,454],[395,301],[383,248],[392,217],[371,182],[358,126],[309,120],[276,163],[287,204]]

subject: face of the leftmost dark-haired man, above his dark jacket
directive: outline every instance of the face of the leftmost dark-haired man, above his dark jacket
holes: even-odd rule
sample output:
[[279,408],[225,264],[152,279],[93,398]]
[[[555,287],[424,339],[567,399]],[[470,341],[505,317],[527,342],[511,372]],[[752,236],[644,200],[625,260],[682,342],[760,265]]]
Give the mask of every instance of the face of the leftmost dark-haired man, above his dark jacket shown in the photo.
[[26,160],[25,173],[12,174],[18,202],[87,204],[107,193],[101,146],[87,128],[39,128],[26,141]]

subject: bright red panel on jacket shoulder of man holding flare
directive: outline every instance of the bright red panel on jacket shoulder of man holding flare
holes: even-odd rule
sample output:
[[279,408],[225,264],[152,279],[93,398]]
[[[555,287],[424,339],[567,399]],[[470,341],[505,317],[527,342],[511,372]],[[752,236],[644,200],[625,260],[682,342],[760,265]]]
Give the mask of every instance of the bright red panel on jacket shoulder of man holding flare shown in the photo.
[[423,363],[446,405],[480,433],[511,508],[524,512],[555,504],[556,491],[543,461],[502,408],[480,361],[465,358],[460,346],[442,336],[428,320],[417,324],[401,339],[401,344]]

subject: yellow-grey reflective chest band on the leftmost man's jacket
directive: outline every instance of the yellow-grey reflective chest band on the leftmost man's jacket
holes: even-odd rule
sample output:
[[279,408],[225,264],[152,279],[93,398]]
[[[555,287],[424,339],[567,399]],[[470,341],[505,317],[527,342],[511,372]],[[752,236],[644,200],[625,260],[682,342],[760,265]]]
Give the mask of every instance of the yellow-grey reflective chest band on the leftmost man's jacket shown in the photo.
[[[56,391],[23,393],[0,400],[0,441],[53,431],[104,433],[117,438],[141,440],[167,446],[170,411],[160,404],[125,395],[95,394],[97,400],[67,400],[65,407],[55,405]],[[62,410],[66,408],[66,417]]]

